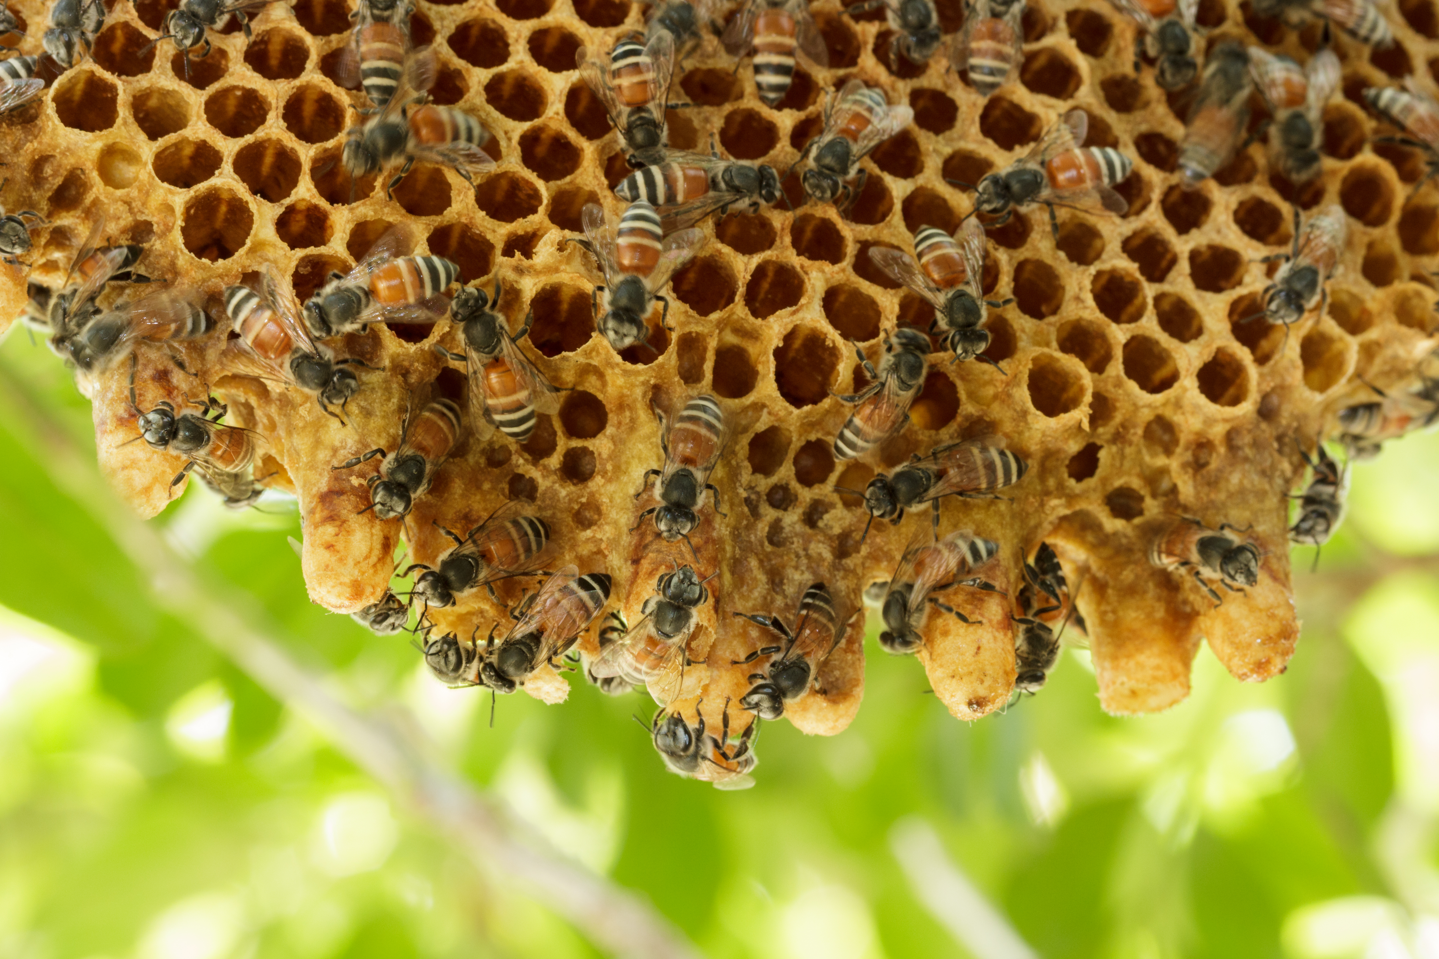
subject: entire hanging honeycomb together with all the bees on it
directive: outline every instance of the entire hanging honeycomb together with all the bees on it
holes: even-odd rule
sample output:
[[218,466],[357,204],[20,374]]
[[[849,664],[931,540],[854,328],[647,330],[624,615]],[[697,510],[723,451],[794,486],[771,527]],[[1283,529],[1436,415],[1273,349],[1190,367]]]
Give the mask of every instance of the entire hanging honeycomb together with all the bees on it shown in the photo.
[[1066,636],[1158,710],[1439,418],[1400,10],[19,0],[0,305],[138,510],[292,492],[315,602],[678,773],[840,731],[865,605],[957,717]]

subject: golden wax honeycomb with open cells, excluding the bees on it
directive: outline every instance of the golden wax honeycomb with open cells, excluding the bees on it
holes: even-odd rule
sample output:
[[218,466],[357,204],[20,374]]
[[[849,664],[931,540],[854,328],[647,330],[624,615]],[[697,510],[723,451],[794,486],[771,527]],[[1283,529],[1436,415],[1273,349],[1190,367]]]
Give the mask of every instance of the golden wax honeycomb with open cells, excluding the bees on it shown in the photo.
[[[498,278],[511,328],[532,312],[522,348],[567,392],[522,445],[498,433],[462,441],[404,523],[361,513],[378,459],[331,467],[374,446],[393,449],[412,399],[460,397],[462,372],[433,348],[460,348],[448,321],[380,325],[335,344],[383,370],[360,372],[348,425],[309,395],[236,376],[220,361],[223,337],[180,347],[197,379],[164,348],[141,347],[141,406],[209,390],[229,405],[227,422],[260,433],[256,474],[298,497],[309,595],[337,612],[384,593],[401,536],[407,563],[433,563],[446,547],[436,524],[469,528],[511,498],[532,503],[550,523],[550,567],[612,575],[612,608],[630,622],[659,573],[686,562],[712,573],[689,644],[702,662],[689,667],[672,711],[688,721],[702,716],[709,733],[728,713],[731,752],[754,721],[737,704],[754,665],[730,662],[770,641],[731,613],[793,623],[800,595],[817,580],[856,613],[816,688],[784,713],[806,733],[840,731],[863,693],[862,595],[889,579],[928,510],[896,527],[876,523],[862,541],[868,514],[835,487],[862,490],[911,454],[984,433],[1003,436],[1029,472],[1007,500],[947,500],[941,510],[941,534],[968,528],[1000,543],[983,573],[1006,590],[955,587],[944,599],[979,622],[931,615],[925,626],[918,658],[954,716],[976,719],[1010,698],[1009,616],[1023,562],[1040,541],[1056,550],[1071,585],[1082,582],[1076,603],[1105,710],[1148,713],[1183,700],[1200,638],[1239,680],[1282,672],[1299,634],[1285,531],[1286,494],[1304,478],[1299,446],[1333,435],[1337,409],[1371,397],[1361,377],[1403,389],[1435,346],[1427,271],[1439,253],[1439,197],[1429,187],[1412,192],[1425,173],[1417,151],[1371,141],[1393,130],[1361,96],[1407,78],[1429,86],[1425,73],[1439,69],[1429,0],[1400,0],[1389,13],[1397,42],[1387,49],[1333,40],[1343,84],[1324,112],[1324,171],[1298,192],[1269,171],[1262,141],[1199,189],[1181,189],[1183,95],[1158,89],[1151,65],[1135,76],[1137,27],[1104,4],[1029,3],[1023,63],[987,99],[948,68],[944,50],[927,66],[891,62],[882,10],[850,17],[835,0],[814,3],[829,66],[802,63],[774,108],[758,99],[751,71],[735,72],[709,37],[676,69],[672,99],[692,107],[669,112],[673,147],[707,150],[714,138],[732,158],[784,171],[820,130],[826,91],[850,76],[912,107],[914,125],[865,160],[865,189],[843,213],[800,204],[791,177],[793,209],[702,222],[705,245],[672,282],[673,333],[658,325],[658,310],[650,315],[658,356],[639,347],[617,356],[594,334],[599,275],[586,253],[561,243],[578,235],[586,203],[620,209],[609,190],[626,173],[604,111],[574,69],[576,52],[609,49],[643,29],[642,4],[419,0],[412,30],[437,55],[433,101],[463,108],[495,135],[498,167],[471,186],[419,164],[393,200],[374,179],[351,184],[337,163],[353,108],[363,105],[360,91],[335,82],[351,26],[344,0],[271,4],[255,16],[252,42],[212,32],[214,50],[189,71],[168,43],[151,46],[173,6],[115,3],[94,56],[3,128],[4,204],[49,220],[35,235],[35,276],[56,282],[104,217],[108,239],[147,246],[148,274],[216,308],[220,289],[262,266],[305,298],[397,223],[414,232],[417,252],[459,264],[463,282],[489,289]],[[42,4],[17,0],[12,10],[32,24],[20,52],[37,53]],[[938,12],[948,39],[961,4],[943,0]],[[1295,30],[1226,0],[1200,3],[1199,22],[1210,45],[1259,43],[1301,62],[1321,37],[1318,23]],[[1134,160],[1118,184],[1128,213],[1061,210],[1058,242],[1043,209],[991,229],[983,287],[1013,302],[991,311],[987,357],[1006,373],[937,354],[909,425],[866,458],[836,462],[830,444],[850,408],[832,392],[865,383],[850,341],[878,359],[886,331],[927,327],[932,317],[875,268],[869,249],[909,249],[927,225],[955,229],[970,197],[945,179],[977,183],[1073,107],[1089,115],[1089,145]],[[1252,122],[1262,117],[1256,98]],[[1327,307],[1289,330],[1240,323],[1278,266],[1256,261],[1288,249],[1291,202],[1304,210],[1338,203],[1350,217]],[[23,305],[24,276],[7,271],[0,282],[9,318]],[[178,495],[170,481],[183,461],[125,442],[137,428],[124,376],[102,377],[92,393],[105,472],[137,510],[160,513]],[[701,510],[691,556],[684,543],[656,543],[648,521],[632,527],[655,503],[652,492],[635,497],[642,474],[662,465],[653,410],[678,412],[701,393],[720,397],[734,435],[714,474],[724,514]],[[1252,527],[1259,582],[1216,608],[1190,577],[1153,566],[1150,546],[1181,515]],[[524,587],[501,583],[501,598],[515,602]],[[476,631],[482,642],[492,623],[507,622],[485,590],[432,619],[463,642]],[[593,634],[581,644],[587,652]],[[568,693],[548,667],[524,688],[545,701]],[[696,775],[734,772],[709,763]]]

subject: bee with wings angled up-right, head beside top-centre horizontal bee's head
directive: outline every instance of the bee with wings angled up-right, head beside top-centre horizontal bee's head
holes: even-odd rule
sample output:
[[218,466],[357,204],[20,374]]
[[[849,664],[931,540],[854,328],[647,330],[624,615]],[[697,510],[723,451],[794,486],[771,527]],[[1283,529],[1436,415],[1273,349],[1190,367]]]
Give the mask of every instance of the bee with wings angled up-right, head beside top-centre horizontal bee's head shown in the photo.
[[[839,96],[832,91],[825,101],[825,128],[804,144],[794,161],[794,166],[809,164],[800,174],[804,194],[827,203],[843,193],[845,206],[853,203],[869,177],[859,161],[912,120],[914,109],[891,107],[884,91],[865,86],[863,81],[849,81]],[[853,187],[849,180],[855,180]]]

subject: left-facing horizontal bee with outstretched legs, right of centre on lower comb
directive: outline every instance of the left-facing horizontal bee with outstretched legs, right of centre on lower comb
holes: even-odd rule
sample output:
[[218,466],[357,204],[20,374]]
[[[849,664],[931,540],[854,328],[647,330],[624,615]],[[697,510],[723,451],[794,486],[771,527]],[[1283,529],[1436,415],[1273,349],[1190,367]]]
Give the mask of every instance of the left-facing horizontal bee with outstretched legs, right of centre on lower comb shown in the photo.
[[994,490],[1019,482],[1029,471],[1029,464],[1002,444],[1002,439],[989,436],[938,446],[928,456],[914,456],[888,477],[875,477],[863,492],[835,488],[865,497],[865,508],[869,510],[865,536],[869,536],[875,517],[896,524],[905,510],[921,503],[934,504],[934,528],[938,533],[941,498],[996,500]]

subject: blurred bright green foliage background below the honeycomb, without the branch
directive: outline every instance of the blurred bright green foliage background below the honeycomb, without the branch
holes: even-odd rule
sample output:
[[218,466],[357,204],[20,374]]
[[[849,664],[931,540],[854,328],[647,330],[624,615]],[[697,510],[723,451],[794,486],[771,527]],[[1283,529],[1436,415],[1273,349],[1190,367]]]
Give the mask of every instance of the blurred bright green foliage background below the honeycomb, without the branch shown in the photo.
[[[88,403],[23,331],[0,376],[92,449]],[[17,415],[0,405],[0,956],[597,955],[151,605]],[[236,515],[194,484],[157,523],[331,691],[412,710],[707,956],[1017,959],[1017,933],[1046,958],[1435,959],[1433,477],[1436,435],[1354,468],[1320,572],[1295,551],[1304,638],[1281,678],[1240,685],[1202,648],[1186,703],[1120,720],[1069,649],[1040,695],[963,724],[872,647],[849,731],[768,724],[740,793],[665,773],[640,697],[515,695],[488,729],[488,697],[436,684],[404,638],[309,605],[282,500]]]

